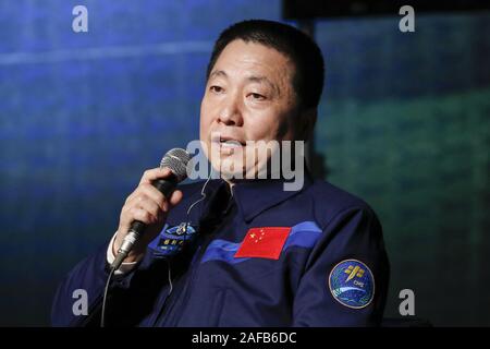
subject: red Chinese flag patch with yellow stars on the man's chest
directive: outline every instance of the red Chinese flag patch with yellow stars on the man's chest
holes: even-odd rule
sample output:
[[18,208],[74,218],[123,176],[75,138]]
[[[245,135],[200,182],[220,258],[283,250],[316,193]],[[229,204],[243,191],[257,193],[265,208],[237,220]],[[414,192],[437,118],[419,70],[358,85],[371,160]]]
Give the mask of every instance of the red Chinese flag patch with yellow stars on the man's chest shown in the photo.
[[248,229],[235,258],[259,257],[279,260],[291,227],[262,227]]

